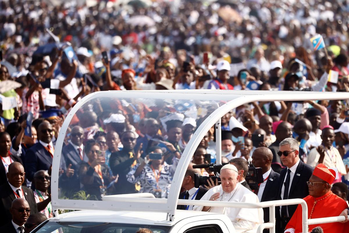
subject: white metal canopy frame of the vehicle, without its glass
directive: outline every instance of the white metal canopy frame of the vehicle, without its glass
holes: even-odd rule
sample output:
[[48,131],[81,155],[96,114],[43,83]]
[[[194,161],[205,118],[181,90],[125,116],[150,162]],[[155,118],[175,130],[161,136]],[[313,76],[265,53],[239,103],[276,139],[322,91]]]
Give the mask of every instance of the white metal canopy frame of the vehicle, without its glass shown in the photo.
[[[67,199],[58,199],[58,174],[59,174],[59,165],[60,165],[60,152],[62,149],[63,141],[65,138],[65,133],[69,127],[72,117],[76,111],[87,101],[91,101],[96,98],[108,98],[108,97],[119,97],[119,98],[144,98],[144,99],[184,99],[184,100],[217,100],[217,101],[229,101],[221,107],[217,108],[214,112],[210,114],[209,117],[205,119],[199,126],[199,128],[194,132],[192,138],[188,142],[183,156],[179,160],[177,165],[176,172],[172,180],[172,185],[170,188],[170,193],[168,199],[163,199],[166,201],[164,205],[163,200],[155,201],[158,199],[154,198],[127,198],[124,202],[115,203],[113,201],[81,201],[81,200],[67,200]],[[186,168],[188,167],[191,158],[198,147],[201,139],[205,136],[208,130],[212,125],[220,124],[220,119],[230,110],[243,105],[245,103],[250,103],[254,101],[302,101],[302,100],[343,100],[349,99],[349,93],[344,92],[284,92],[284,91],[234,91],[234,90],[173,90],[173,91],[107,91],[107,92],[96,92],[88,96],[85,96],[81,101],[79,101],[73,109],[69,112],[66,117],[55,147],[55,153],[53,157],[52,165],[52,184],[51,184],[51,194],[52,194],[52,206],[55,210],[57,209],[73,209],[73,210],[90,210],[90,209],[105,209],[105,210],[147,210],[147,211],[162,211],[169,213],[171,220],[174,220],[176,214],[176,207],[178,203],[178,195],[180,192],[181,182],[184,179],[184,174]],[[220,127],[218,127],[220,128]],[[219,131],[219,129],[218,129]],[[218,135],[220,138],[220,135]],[[218,141],[218,144],[221,140]],[[220,146],[218,147],[220,149]],[[217,152],[220,153],[220,150]],[[221,157],[218,156],[217,163],[221,161]],[[285,200],[291,201],[291,200]],[[270,203],[269,206],[275,205],[284,205],[285,201],[279,204]],[[199,201],[195,201],[199,202]],[[201,201],[200,201],[201,202]],[[226,206],[227,203],[222,202]],[[287,202],[288,203],[288,202]],[[298,202],[300,203],[300,202]],[[297,203],[297,204],[298,204]],[[199,203],[198,203],[199,204]],[[212,204],[212,203],[211,203]],[[233,203],[232,203],[233,204]],[[234,203],[237,204],[237,203]],[[240,203],[240,204],[249,204],[247,206],[255,207],[267,207],[263,203],[256,205],[255,203]],[[229,204],[230,206],[230,204]],[[235,207],[238,207],[237,205]],[[270,208],[272,211],[274,208]],[[304,209],[303,209],[304,211]],[[306,212],[303,212],[307,213]],[[271,213],[270,213],[271,214]],[[275,216],[275,213],[274,213]],[[270,218],[272,219],[272,218]],[[335,220],[335,219],[334,219]],[[312,219],[316,221],[316,219]],[[320,221],[320,220],[319,220]],[[304,222],[305,225],[307,223]],[[307,232],[303,225],[303,233]],[[263,225],[263,227],[269,227],[269,225]],[[272,228],[272,232],[275,232],[275,229]]]

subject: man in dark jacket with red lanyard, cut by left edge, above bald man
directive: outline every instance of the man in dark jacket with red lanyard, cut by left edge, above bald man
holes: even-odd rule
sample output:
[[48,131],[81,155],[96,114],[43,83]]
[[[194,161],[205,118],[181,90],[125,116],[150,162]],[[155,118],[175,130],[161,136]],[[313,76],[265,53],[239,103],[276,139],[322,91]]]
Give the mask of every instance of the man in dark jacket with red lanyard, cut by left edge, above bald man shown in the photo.
[[11,163],[20,162],[21,164],[23,164],[22,160],[19,157],[13,156],[9,153],[10,148],[11,148],[10,134],[8,134],[7,132],[1,132],[0,133],[0,156],[1,156],[0,157],[1,158],[0,185],[7,183],[6,173],[7,173],[8,166]]

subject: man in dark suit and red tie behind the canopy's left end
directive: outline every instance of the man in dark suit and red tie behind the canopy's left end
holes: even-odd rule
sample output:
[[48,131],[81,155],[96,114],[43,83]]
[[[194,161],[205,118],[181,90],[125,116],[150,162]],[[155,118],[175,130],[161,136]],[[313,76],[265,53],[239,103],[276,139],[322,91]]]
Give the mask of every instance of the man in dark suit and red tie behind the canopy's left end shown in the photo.
[[74,126],[70,132],[70,143],[62,148],[62,156],[67,168],[62,168],[65,173],[59,180],[59,187],[66,192],[75,194],[80,190],[79,167],[81,162],[88,162],[87,156],[84,155],[84,130],[80,126]]

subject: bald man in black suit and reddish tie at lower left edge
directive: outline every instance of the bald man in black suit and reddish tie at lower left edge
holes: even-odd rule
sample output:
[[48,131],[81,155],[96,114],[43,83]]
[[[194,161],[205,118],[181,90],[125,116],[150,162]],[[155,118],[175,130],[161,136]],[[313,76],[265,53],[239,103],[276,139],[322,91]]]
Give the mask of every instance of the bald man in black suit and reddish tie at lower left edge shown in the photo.
[[16,198],[24,198],[28,202],[30,213],[38,212],[33,191],[22,186],[24,175],[25,172],[21,163],[13,162],[8,166],[8,182],[0,186],[0,226],[11,221],[10,207]]

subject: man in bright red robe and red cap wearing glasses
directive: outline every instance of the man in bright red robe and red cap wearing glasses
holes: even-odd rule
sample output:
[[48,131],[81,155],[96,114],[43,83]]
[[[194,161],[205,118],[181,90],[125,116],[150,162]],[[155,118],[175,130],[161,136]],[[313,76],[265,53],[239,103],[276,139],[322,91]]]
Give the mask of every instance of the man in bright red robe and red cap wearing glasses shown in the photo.
[[[303,198],[308,206],[308,219],[339,216],[348,205],[331,191],[336,172],[319,163],[307,182],[309,196]],[[302,206],[299,204],[296,212],[286,226],[284,233],[302,232]],[[348,226],[343,223],[327,223],[309,225],[309,231],[321,227],[324,232],[348,232]]]

